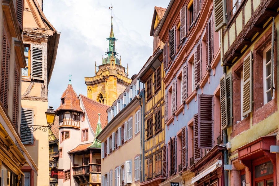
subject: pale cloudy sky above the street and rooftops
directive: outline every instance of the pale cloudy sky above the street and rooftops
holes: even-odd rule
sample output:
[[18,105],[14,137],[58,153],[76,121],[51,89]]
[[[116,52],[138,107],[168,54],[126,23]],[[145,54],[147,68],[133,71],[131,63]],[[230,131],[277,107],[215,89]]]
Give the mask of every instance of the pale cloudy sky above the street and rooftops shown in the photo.
[[44,0],[43,12],[60,34],[48,104],[54,109],[71,83],[77,94],[87,95],[84,77],[95,76],[108,49],[113,6],[115,47],[122,66],[129,64],[129,78],[139,73],[153,52],[150,27],[154,6],[166,8],[170,0]]

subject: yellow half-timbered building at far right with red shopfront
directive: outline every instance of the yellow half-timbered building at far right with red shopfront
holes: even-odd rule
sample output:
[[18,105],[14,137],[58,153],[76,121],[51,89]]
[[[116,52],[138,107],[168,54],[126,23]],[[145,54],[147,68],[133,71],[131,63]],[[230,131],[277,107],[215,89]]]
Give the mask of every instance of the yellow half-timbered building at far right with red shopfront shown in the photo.
[[233,170],[225,174],[230,185],[278,185],[279,2],[232,2],[214,1],[226,72],[220,80],[221,123]]

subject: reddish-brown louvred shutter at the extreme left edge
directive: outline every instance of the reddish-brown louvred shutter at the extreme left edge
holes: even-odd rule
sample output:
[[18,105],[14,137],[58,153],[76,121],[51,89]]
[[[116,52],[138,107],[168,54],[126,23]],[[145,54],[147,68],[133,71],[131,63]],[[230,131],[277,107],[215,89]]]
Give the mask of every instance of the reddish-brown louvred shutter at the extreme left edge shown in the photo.
[[9,68],[10,68],[10,44],[3,30],[0,101],[2,102],[4,109],[8,108]]

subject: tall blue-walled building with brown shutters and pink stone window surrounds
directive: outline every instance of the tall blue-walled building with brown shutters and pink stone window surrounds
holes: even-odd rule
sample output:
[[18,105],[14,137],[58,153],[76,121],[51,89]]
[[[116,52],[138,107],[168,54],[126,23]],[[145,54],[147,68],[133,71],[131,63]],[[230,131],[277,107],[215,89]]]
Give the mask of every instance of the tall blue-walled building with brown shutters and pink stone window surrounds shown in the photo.
[[165,73],[162,186],[224,184],[219,111],[223,69],[213,16],[211,1],[171,1],[153,31],[163,42]]

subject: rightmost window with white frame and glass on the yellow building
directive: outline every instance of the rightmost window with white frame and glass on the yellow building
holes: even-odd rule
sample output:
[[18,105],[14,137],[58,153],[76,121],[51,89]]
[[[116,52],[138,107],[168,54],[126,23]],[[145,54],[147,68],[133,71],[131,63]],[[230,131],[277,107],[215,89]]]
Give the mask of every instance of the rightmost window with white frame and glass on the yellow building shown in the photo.
[[[274,68],[273,68],[274,69]],[[272,91],[274,85],[271,76],[271,48],[263,51],[263,104],[268,103],[272,99],[274,99],[274,91]]]

